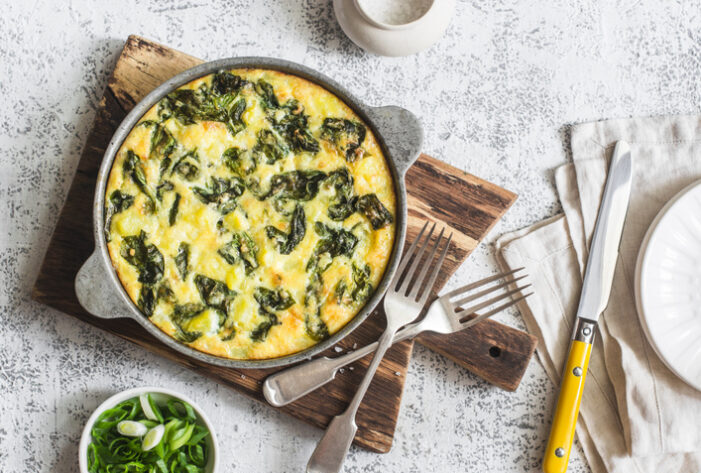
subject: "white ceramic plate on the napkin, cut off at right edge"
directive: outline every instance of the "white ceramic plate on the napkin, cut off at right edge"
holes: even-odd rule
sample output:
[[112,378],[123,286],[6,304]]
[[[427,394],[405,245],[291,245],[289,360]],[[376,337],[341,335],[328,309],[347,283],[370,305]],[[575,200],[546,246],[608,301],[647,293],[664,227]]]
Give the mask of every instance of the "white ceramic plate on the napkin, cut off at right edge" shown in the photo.
[[701,390],[701,181],[677,194],[650,225],[638,254],[635,296],[657,354]]

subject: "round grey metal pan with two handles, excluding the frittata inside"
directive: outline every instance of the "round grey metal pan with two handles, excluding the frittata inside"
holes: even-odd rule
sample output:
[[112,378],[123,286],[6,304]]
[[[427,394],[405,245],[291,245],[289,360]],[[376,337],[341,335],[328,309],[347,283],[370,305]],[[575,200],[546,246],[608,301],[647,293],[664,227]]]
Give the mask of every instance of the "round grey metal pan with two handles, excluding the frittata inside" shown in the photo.
[[[273,69],[293,74],[329,90],[343,100],[372,129],[377,137],[392,173],[397,200],[395,240],[387,269],[378,287],[365,306],[341,330],[328,339],[298,353],[263,360],[233,360],[210,355],[190,348],[162,332],[139,310],[122,287],[112,266],[104,238],[105,189],[112,162],[122,142],[141,117],[160,99],[188,82],[225,69]],[[370,107],[356,99],[340,84],[308,67],[289,61],[262,57],[219,59],[188,69],[167,80],[146,97],[124,118],[110,140],[100,165],[93,201],[93,235],[95,250],[78,271],[75,290],[80,304],[92,315],[105,319],[130,318],[168,347],[185,356],[218,366],[261,369],[285,366],[326,350],[358,327],[382,299],[399,265],[407,227],[407,199],[404,175],[421,151],[423,129],[414,114],[397,106]]]

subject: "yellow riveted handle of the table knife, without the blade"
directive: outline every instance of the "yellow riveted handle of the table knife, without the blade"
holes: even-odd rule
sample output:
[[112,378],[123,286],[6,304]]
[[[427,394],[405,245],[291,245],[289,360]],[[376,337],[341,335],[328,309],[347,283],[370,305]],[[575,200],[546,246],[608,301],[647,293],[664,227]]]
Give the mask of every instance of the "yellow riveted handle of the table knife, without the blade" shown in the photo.
[[555,415],[550,428],[550,438],[543,459],[545,473],[564,473],[567,471],[595,328],[595,323],[584,320],[580,320],[575,328],[567,363],[565,363],[565,371],[562,374],[560,395],[557,398]]

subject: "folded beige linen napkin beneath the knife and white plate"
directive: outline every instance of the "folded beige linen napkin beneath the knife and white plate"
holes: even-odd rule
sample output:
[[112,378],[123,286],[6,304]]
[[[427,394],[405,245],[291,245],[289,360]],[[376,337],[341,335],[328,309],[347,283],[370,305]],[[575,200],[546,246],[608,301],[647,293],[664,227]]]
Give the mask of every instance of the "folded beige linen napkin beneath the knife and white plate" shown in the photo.
[[594,472],[700,472],[701,392],[649,345],[635,310],[638,249],[653,218],[701,179],[701,117],[609,120],[572,129],[573,163],[555,172],[564,215],[497,241],[500,262],[525,266],[535,295],[520,304],[538,356],[559,383],[607,163],[616,141],[633,153],[633,189],[611,299],[584,389],[578,438]]

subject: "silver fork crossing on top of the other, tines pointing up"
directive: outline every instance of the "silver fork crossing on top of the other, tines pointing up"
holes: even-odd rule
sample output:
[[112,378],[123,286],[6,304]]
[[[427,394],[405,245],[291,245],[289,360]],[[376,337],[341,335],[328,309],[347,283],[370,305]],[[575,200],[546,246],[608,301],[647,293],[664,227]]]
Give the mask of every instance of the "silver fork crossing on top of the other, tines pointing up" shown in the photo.
[[[431,240],[431,235],[433,235],[433,231],[436,228],[436,224],[433,224],[431,230],[423,240],[421,248],[413,258],[411,266],[406,270],[406,275],[402,277],[427,227],[428,222],[424,224],[416,239],[402,257],[399,268],[387,290],[384,299],[387,327],[380,337],[375,356],[370,362],[365,377],[345,412],[334,417],[326,428],[324,436],[321,438],[321,441],[316,446],[314,453],[312,453],[309,459],[307,473],[338,473],[341,471],[343,461],[355,437],[355,432],[358,430],[358,426],[355,424],[355,414],[358,411],[360,402],[365,396],[368,386],[370,386],[370,382],[375,375],[375,371],[377,371],[377,367],[380,365],[387,349],[392,345],[397,330],[414,320],[419,313],[421,313],[421,309],[426,303],[429,294],[431,294],[431,288],[438,277],[438,271],[443,265],[443,260],[445,259],[450,241],[453,237],[451,233],[447,238],[445,247],[440,256],[435,263],[431,264],[443,240],[445,228],[441,230],[436,238],[423,266],[417,271],[419,263]],[[431,268],[430,274],[428,274],[429,268]]]

